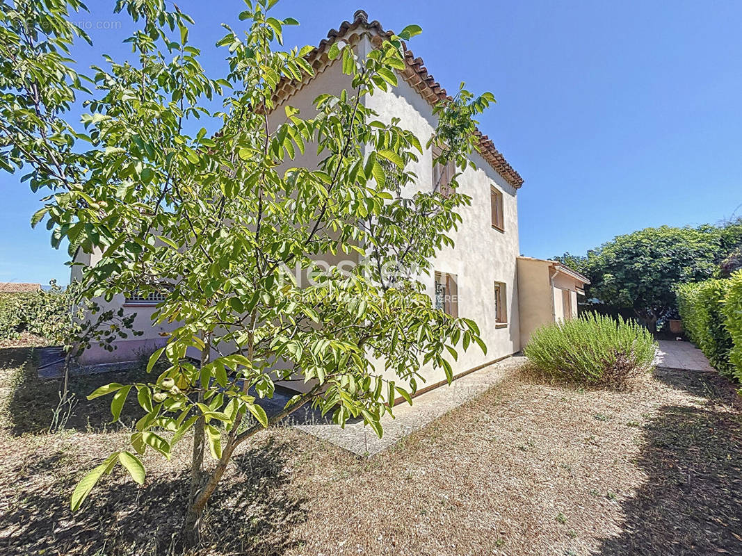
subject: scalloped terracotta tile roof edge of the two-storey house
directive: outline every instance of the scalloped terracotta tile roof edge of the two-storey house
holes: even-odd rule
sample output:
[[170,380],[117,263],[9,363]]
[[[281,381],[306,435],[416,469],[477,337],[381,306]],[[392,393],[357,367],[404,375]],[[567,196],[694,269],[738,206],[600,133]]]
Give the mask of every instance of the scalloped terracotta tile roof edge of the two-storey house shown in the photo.
[[[361,33],[352,33],[355,30],[361,29]],[[315,76],[305,76],[302,82],[291,79],[283,79],[278,85],[278,90],[275,93],[274,100],[276,104],[289,99],[294,95],[303,85],[315,79],[320,73],[329,67],[333,60],[327,57],[327,50],[330,45],[340,39],[345,40],[349,44],[356,44],[363,33],[373,33],[374,37],[381,39],[386,36],[390,36],[393,33],[391,31],[384,30],[381,27],[381,23],[378,21],[368,21],[368,14],[364,10],[358,10],[353,14],[353,21],[343,21],[340,24],[340,29],[329,30],[327,38],[322,39],[320,44],[306,55],[306,59],[309,64],[312,64],[312,68],[315,70]],[[374,38],[372,37],[372,39]],[[380,42],[380,41],[378,41]],[[421,58],[416,58],[411,50],[405,50],[404,61],[407,64],[406,69],[402,72],[404,80],[413,87],[420,95],[427,100],[430,105],[435,105],[436,102],[441,100],[450,99],[446,90],[441,87],[439,82],[428,73],[427,68],[423,65]],[[492,140],[486,135],[482,134],[481,131],[476,130],[476,134],[479,136],[479,151],[487,163],[493,168],[494,171],[500,174],[505,181],[507,181],[514,188],[520,188],[523,185],[523,178],[515,169],[508,164],[505,160],[505,156],[495,148]]]

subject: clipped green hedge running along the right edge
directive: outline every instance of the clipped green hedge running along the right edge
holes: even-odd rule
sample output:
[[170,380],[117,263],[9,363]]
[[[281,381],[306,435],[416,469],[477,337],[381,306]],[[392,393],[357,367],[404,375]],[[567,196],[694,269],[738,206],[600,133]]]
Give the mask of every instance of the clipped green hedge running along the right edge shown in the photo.
[[742,382],[742,271],[679,285],[677,308],[689,340],[726,377]]

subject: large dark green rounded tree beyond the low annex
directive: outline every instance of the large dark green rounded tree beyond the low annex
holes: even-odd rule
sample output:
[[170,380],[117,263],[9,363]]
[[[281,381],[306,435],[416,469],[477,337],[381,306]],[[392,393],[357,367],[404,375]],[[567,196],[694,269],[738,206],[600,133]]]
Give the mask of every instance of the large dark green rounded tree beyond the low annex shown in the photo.
[[709,279],[719,253],[714,228],[645,228],[588,254],[590,296],[630,308],[651,330],[676,306],[674,287]]

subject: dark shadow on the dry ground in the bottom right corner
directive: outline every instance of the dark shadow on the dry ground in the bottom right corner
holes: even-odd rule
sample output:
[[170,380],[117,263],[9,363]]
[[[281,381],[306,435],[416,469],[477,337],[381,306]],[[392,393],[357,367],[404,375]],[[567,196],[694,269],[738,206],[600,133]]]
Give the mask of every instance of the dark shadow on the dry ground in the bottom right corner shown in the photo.
[[[686,382],[672,374],[677,371],[660,376]],[[712,395],[705,397],[710,401]],[[623,533],[603,541],[599,553],[742,554],[740,414],[721,406],[665,406],[645,434],[637,465],[648,477],[623,503]]]

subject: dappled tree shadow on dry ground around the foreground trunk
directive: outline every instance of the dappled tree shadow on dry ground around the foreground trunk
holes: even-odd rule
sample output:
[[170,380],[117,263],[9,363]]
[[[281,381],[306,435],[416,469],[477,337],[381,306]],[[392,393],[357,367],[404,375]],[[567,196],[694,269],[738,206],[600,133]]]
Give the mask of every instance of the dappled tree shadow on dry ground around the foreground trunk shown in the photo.
[[[272,440],[234,458],[203,520],[201,546],[189,555],[280,555],[295,546],[292,526],[306,520],[304,500],[290,494],[285,471],[290,444]],[[154,556],[182,554],[187,474],[157,477],[139,489],[131,480],[104,481],[78,513],[69,509],[74,482],[57,478],[65,454],[17,469],[21,479],[10,508],[0,514],[4,555]],[[105,483],[108,483],[106,485]]]

